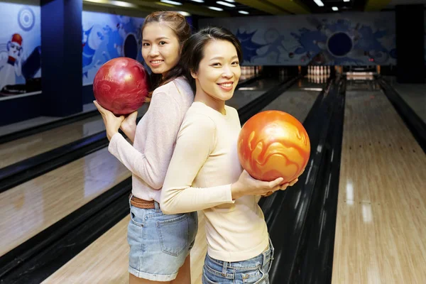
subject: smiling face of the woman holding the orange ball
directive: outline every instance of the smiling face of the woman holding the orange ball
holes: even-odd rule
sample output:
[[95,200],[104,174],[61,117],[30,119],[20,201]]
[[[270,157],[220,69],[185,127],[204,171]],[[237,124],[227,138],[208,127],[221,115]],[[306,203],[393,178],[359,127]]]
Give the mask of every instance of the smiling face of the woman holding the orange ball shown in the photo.
[[192,72],[200,88],[197,92],[204,92],[217,101],[231,99],[241,76],[236,48],[227,40],[210,40],[203,51],[198,71]]

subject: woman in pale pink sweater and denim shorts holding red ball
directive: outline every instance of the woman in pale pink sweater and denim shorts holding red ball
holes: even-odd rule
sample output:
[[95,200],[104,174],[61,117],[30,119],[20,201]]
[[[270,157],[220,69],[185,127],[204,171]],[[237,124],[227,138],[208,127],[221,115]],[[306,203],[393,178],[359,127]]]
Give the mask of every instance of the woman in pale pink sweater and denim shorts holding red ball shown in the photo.
[[[190,249],[197,234],[197,212],[166,215],[163,187],[176,136],[194,93],[180,65],[182,45],[190,37],[185,17],[172,11],[151,13],[142,27],[142,55],[155,89],[136,126],[137,112],[116,117],[94,102],[104,118],[109,152],[132,173],[129,280],[134,283],[190,284]],[[119,128],[133,142],[126,141]]]

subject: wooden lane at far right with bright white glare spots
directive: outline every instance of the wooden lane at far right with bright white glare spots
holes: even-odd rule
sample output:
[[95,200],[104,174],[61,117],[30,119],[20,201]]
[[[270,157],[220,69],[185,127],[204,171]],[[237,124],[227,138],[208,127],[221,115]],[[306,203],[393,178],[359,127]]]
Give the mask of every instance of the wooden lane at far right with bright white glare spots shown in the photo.
[[332,283],[425,283],[426,155],[365,86],[346,91]]

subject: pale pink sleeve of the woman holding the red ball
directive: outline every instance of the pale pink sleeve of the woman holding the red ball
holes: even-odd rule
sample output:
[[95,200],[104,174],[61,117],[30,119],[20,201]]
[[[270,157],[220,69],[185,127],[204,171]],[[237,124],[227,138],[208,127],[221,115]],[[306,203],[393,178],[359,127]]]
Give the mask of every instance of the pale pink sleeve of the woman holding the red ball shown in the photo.
[[133,148],[120,133],[112,136],[108,147],[109,152],[126,168],[155,189],[163,186],[173,154],[173,144],[180,128],[182,114],[175,97],[165,92],[153,94],[145,114],[150,116],[151,123],[146,127],[145,133],[136,133],[146,136],[143,153]]

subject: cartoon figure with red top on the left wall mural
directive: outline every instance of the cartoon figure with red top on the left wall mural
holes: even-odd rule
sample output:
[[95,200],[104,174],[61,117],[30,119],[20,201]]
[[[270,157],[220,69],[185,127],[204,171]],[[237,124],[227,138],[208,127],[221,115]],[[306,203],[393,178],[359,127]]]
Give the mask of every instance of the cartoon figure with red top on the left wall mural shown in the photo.
[[22,37],[18,33],[12,35],[7,43],[8,56],[0,60],[0,91],[6,85],[16,84],[16,76],[21,76]]

